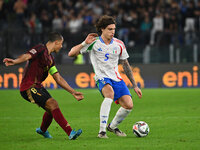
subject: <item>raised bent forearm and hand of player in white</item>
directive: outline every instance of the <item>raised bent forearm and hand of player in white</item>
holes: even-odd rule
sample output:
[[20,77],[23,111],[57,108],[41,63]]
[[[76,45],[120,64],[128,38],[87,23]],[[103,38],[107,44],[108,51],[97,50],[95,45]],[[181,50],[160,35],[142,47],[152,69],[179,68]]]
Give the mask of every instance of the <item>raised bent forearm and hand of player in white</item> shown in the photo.
[[91,44],[92,42],[94,42],[96,40],[97,36],[98,36],[98,34],[96,34],[96,33],[88,34],[85,41],[83,41],[81,44],[78,44],[78,45],[72,47],[72,49],[68,53],[68,56],[69,57],[77,56],[80,53],[80,50],[83,47],[85,47],[87,44]]

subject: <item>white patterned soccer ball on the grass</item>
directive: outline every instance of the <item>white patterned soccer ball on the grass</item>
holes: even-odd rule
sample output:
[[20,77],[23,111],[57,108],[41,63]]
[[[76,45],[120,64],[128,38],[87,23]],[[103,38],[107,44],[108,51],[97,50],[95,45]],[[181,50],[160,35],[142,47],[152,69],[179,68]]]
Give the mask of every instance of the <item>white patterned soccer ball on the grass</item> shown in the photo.
[[133,133],[137,137],[145,137],[149,134],[149,126],[144,121],[138,121],[133,125]]

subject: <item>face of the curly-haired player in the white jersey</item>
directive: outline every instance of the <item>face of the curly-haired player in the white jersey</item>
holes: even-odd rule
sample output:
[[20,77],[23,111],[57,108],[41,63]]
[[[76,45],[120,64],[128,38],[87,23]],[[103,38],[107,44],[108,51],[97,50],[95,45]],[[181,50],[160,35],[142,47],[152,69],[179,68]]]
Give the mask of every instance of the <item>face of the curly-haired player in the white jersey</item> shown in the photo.
[[114,37],[115,29],[115,24],[110,24],[105,29],[102,29],[102,35],[108,40],[111,40]]

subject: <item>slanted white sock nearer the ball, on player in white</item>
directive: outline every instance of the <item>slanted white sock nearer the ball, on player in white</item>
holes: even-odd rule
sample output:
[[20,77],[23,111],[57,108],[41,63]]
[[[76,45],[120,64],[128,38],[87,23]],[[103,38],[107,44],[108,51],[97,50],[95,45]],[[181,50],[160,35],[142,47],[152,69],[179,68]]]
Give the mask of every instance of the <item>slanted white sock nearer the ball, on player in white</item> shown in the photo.
[[115,117],[113,118],[110,128],[115,129],[126,118],[126,116],[132,111],[132,109],[125,109],[120,107]]

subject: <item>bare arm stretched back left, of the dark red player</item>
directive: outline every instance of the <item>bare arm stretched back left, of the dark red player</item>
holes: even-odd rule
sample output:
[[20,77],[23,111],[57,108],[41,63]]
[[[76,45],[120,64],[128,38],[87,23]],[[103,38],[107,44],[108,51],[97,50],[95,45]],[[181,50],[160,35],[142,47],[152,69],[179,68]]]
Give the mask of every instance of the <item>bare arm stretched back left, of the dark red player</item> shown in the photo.
[[26,54],[19,56],[16,59],[4,58],[3,62],[5,63],[6,66],[13,66],[13,65],[16,65],[16,64],[23,63],[23,62],[25,62],[25,61],[27,61],[31,58],[32,58],[31,54],[26,53]]

